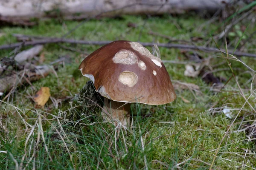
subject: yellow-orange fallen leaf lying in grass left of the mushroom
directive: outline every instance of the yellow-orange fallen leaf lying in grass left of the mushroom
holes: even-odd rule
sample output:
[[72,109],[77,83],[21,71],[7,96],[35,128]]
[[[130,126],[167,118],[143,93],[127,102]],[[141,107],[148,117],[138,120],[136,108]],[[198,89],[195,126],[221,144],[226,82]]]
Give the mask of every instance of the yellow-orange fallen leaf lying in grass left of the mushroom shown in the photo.
[[41,89],[35,94],[34,99],[37,105],[44,106],[46,102],[49,100],[50,96],[50,88],[41,87]]

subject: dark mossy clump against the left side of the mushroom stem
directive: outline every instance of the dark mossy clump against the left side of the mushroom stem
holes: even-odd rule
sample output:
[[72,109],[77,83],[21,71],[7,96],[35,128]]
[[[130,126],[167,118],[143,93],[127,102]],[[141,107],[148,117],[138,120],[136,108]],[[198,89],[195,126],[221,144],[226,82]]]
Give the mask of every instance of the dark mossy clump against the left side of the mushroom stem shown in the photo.
[[100,115],[103,106],[103,97],[95,91],[91,81],[88,81],[79,94],[71,100],[70,108],[58,111],[58,116],[63,117],[62,127],[66,133],[80,132],[81,128],[93,122],[101,122]]

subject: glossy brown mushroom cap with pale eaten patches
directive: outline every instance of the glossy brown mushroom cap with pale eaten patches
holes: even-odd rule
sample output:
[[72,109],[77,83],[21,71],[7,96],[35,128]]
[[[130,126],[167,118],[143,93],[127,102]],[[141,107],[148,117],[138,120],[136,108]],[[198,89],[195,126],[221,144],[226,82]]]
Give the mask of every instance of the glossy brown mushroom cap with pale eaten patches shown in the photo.
[[117,102],[163,105],[176,98],[161,59],[138,42],[114,41],[102,46],[80,64],[102,96]]

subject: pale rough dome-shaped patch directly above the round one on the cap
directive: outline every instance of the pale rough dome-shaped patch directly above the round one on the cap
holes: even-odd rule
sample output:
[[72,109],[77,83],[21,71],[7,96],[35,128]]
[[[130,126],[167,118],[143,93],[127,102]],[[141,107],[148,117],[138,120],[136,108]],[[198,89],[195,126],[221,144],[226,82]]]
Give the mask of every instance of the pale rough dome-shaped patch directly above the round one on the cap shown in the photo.
[[120,50],[113,57],[114,63],[132,65],[138,62],[137,55],[130,50]]

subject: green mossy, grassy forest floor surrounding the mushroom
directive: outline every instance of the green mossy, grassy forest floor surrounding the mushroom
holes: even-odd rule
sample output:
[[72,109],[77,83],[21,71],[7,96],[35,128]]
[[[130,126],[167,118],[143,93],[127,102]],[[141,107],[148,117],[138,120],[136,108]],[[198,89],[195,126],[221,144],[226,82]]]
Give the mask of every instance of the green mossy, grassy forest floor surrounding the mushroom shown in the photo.
[[[78,24],[46,20],[33,27],[1,26],[0,45],[17,42],[13,34],[61,37]],[[223,20],[195,14],[89,20],[67,38],[171,42],[255,54],[254,25],[243,20],[233,26],[227,45],[216,38]],[[99,108],[84,107],[88,100],[71,103],[88,81],[79,64],[99,47],[44,45],[34,63],[49,64],[61,57],[67,61],[47,77],[2,97],[0,169],[256,168],[256,58],[159,47],[177,99],[166,105],[132,104],[133,126],[123,130],[103,122]],[[0,58],[12,57],[12,52],[0,50]],[[189,66],[200,73],[186,76]],[[51,97],[40,108],[34,96],[41,87],[49,87]]]

